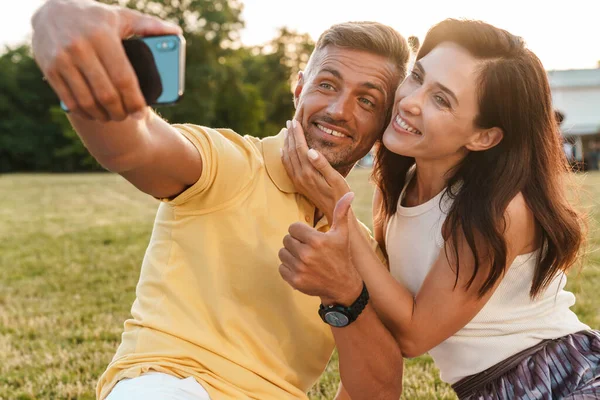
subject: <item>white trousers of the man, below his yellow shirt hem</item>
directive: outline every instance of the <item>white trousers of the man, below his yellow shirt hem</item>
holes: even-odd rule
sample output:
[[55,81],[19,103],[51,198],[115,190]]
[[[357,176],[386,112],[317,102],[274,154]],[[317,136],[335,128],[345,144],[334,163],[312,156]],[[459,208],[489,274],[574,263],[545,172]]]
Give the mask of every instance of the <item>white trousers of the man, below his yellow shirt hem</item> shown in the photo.
[[106,400],[210,400],[196,379],[148,372],[119,381]]

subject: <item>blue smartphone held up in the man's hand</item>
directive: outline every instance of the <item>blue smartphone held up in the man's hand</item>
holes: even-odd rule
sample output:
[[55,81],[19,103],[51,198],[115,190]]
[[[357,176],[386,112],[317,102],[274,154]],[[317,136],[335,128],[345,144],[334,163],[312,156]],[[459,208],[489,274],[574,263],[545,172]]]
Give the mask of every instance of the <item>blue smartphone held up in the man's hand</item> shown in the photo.
[[[147,36],[122,41],[146,104],[175,104],[185,86],[185,39],[181,35]],[[63,110],[69,111],[61,101]]]

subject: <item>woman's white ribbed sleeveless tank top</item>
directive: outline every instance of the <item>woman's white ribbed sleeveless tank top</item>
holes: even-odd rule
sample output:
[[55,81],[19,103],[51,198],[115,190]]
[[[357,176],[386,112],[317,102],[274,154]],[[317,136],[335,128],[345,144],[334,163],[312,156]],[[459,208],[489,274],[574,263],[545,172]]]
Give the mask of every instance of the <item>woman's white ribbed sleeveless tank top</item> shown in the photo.
[[[442,194],[416,207],[403,207],[403,191],[398,210],[388,221],[390,272],[415,296],[444,245],[442,224],[452,203]],[[537,252],[518,256],[481,311],[429,351],[443,381],[455,383],[544,339],[589,329],[569,309],[575,296],[563,289],[567,281],[563,273],[531,300],[536,256]]]

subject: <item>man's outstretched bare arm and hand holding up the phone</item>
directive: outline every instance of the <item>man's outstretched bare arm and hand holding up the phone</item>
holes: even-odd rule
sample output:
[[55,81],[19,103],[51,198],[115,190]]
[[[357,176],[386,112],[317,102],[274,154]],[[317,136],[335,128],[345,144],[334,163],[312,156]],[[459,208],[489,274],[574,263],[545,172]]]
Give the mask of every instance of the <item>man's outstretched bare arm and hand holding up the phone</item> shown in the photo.
[[146,105],[121,40],[179,34],[173,24],[91,0],[48,0],[33,16],[33,52],[92,156],[155,197],[202,173],[196,148]]

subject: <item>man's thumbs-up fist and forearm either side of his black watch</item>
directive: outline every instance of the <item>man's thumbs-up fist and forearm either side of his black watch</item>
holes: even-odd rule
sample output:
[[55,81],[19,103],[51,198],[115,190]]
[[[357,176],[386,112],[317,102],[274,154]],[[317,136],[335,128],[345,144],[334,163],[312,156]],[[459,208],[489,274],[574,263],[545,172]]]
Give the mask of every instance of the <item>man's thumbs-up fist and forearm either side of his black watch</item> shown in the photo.
[[[325,306],[349,307],[363,289],[359,273],[343,262],[348,256],[351,200],[352,194],[340,200],[328,232],[319,232],[303,223],[292,224],[290,234],[283,239],[285,248],[279,252],[283,279],[302,293],[319,296]],[[331,236],[336,239],[330,240]],[[336,243],[332,251],[319,252],[327,260],[311,260],[310,248],[318,248],[324,242]],[[321,264],[329,268],[322,268]],[[370,302],[354,322],[344,327],[332,326],[331,331],[339,353],[340,375],[352,399],[397,400],[402,390],[402,354]]]

